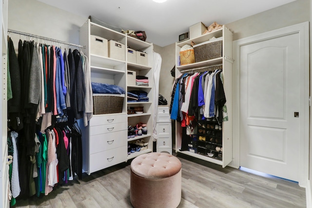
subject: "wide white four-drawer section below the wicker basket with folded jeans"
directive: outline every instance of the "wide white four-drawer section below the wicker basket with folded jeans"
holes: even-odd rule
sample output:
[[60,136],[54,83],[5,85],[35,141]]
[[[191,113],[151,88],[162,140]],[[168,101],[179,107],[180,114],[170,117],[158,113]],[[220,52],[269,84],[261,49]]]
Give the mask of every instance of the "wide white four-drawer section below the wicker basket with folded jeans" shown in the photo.
[[92,172],[127,161],[126,114],[94,115],[82,132],[82,169]]

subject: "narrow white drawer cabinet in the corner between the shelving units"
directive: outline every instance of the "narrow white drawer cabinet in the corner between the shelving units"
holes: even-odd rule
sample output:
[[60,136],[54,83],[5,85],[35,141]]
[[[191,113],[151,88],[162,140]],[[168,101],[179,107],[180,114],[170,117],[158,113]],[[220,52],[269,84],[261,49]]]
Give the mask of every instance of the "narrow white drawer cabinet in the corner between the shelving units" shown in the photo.
[[157,112],[157,141],[156,151],[172,154],[172,124],[169,114],[169,107],[158,107]]

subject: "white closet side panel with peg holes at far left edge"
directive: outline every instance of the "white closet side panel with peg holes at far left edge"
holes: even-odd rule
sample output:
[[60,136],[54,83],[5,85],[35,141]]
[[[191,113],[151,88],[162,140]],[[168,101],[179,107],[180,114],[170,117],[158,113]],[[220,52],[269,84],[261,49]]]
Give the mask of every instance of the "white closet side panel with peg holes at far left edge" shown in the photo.
[[8,0],[2,0],[1,4],[1,75],[0,78],[2,95],[0,108],[2,119],[0,121],[0,132],[1,133],[1,142],[0,142],[0,153],[2,155],[2,164],[0,166],[0,194],[1,202],[0,205],[3,208],[9,207],[8,200],[8,182],[9,182],[9,166],[6,165],[7,155],[8,155],[8,146],[7,146],[7,11],[8,11]]

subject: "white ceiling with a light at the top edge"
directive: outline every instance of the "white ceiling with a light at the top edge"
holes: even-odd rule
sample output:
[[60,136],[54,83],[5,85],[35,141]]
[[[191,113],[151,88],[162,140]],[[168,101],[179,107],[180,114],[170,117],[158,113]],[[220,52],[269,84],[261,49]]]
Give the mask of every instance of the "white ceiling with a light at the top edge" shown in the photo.
[[91,15],[124,30],[146,32],[161,47],[178,41],[197,22],[227,24],[294,0],[39,0],[85,17]]

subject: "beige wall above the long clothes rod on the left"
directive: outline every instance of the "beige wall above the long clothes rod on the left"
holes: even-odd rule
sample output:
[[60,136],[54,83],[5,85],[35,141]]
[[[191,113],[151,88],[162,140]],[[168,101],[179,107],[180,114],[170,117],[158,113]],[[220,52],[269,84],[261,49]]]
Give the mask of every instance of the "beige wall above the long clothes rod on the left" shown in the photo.
[[[37,0],[8,2],[9,29],[79,44],[79,29],[88,17],[70,14]],[[20,35],[11,34],[11,37],[15,43]]]

